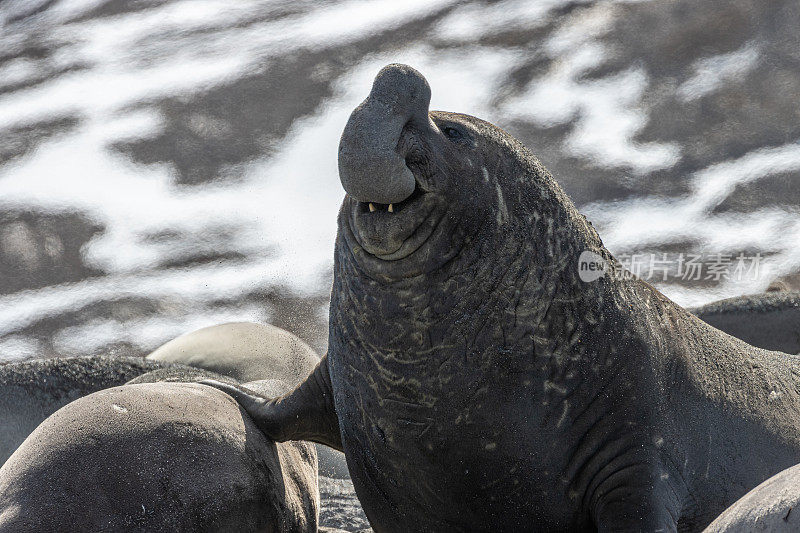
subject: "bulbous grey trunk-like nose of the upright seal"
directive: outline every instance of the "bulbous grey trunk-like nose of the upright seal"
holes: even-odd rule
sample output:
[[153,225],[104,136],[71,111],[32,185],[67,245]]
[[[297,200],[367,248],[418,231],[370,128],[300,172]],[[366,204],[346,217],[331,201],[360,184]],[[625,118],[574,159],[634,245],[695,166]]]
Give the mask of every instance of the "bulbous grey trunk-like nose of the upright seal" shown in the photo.
[[392,64],[375,77],[369,96],[350,115],[339,141],[339,179],[359,202],[402,202],[415,180],[398,153],[408,124],[428,127],[431,88],[408,65]]

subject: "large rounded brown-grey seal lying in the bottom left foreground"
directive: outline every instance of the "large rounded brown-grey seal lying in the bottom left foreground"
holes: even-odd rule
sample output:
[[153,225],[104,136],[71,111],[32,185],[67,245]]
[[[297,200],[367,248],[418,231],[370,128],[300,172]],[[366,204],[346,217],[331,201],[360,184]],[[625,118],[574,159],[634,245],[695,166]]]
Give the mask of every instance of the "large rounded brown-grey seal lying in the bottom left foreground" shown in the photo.
[[193,383],[70,403],[0,468],[0,532],[315,531],[318,507],[313,446]]

